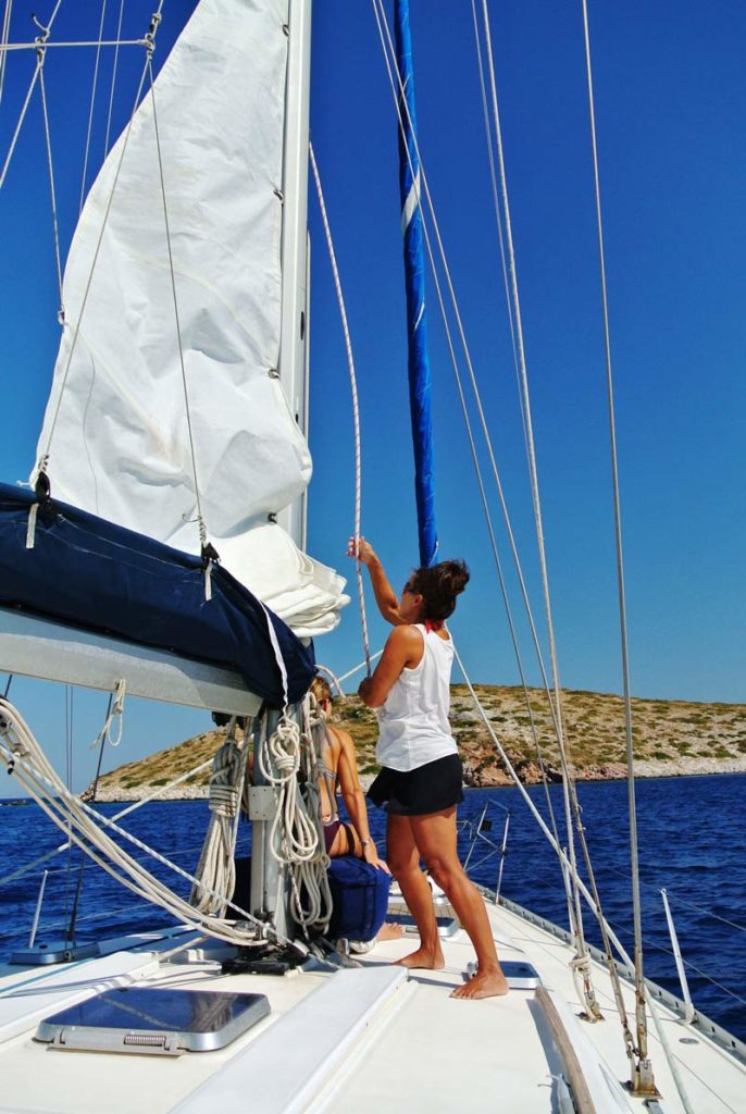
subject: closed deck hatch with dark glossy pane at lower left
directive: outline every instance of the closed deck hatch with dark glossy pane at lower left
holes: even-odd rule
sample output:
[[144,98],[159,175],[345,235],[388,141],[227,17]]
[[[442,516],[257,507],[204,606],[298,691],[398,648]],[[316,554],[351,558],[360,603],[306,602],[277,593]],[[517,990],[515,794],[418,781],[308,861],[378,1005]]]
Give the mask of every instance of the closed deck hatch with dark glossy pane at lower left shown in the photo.
[[125,987],[47,1017],[35,1040],[75,1052],[179,1056],[223,1048],[268,1013],[264,994]]

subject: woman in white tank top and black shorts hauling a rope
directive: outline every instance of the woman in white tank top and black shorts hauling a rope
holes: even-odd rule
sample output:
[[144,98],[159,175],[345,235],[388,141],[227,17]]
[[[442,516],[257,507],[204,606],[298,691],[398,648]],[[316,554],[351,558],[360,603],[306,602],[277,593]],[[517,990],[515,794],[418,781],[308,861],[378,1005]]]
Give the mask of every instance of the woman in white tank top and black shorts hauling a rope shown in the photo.
[[477,952],[477,975],[452,997],[507,994],[484,902],[457,852],[462,769],[448,722],[453,643],[444,622],[469,582],[469,570],[454,560],[415,569],[397,599],[364,538],[357,554],[351,538],[347,553],[367,567],[379,610],[395,627],[359,694],[379,713],[376,758],[383,769],[367,795],[389,813],[386,860],[420,932],[420,947],[400,962],[430,969],[444,964],[422,858]]

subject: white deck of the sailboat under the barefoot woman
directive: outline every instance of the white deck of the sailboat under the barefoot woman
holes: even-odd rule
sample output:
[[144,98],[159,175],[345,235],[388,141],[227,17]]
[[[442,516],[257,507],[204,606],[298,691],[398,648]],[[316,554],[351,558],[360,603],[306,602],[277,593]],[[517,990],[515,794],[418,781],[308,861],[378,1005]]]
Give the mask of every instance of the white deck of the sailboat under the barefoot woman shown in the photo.
[[[627,1078],[627,1059],[608,975],[595,969],[607,1020],[582,1023],[577,1019],[580,1006],[567,945],[504,909],[490,908],[490,917],[501,957],[528,959],[543,985],[557,991],[559,1012],[599,1114],[630,1110],[648,1114],[641,1101],[629,1098],[619,1086]],[[462,981],[473,959],[461,931],[443,941],[443,971],[403,979],[390,964],[415,939],[379,945],[362,957],[362,970],[332,976],[298,971],[284,977],[222,976],[219,966],[209,960],[158,967],[157,952],[166,945],[148,941],[139,941],[136,957],[117,951],[51,970],[3,968],[0,1009],[12,1014],[13,1028],[0,1043],[0,1111],[557,1111],[552,1077],[563,1072],[563,1065],[534,991],[512,990],[507,998],[484,1001],[450,998],[450,989]],[[168,940],[167,949],[174,944]],[[39,1005],[51,1000],[47,995],[75,997],[81,988],[138,975],[149,985],[263,993],[272,1014],[227,1048],[175,1059],[66,1053],[32,1040]],[[631,991],[626,998],[631,1012]],[[59,1008],[55,1004],[49,1012]],[[661,1008],[661,1014],[691,1108],[697,1114],[746,1114],[746,1068],[669,1012]],[[683,1036],[691,1035],[697,1044],[680,1044]],[[661,1108],[678,1114],[684,1107],[652,1025],[650,1054]],[[271,1087],[271,1079],[279,1085]]]

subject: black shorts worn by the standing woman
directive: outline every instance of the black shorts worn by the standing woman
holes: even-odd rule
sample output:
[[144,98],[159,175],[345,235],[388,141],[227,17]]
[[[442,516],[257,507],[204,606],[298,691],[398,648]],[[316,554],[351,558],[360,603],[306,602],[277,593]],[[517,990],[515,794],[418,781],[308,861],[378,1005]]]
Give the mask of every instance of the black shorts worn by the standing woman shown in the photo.
[[458,754],[402,772],[384,766],[367,791],[369,800],[397,817],[426,817],[463,801],[463,768]]

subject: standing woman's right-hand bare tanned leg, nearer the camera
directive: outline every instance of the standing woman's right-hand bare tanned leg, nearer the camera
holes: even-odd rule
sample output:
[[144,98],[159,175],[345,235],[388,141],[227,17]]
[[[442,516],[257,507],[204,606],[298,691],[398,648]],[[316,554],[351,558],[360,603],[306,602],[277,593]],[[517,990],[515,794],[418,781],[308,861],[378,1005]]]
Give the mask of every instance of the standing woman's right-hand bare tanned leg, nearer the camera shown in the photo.
[[490,998],[508,994],[490,921],[477,887],[467,878],[457,851],[455,807],[426,817],[410,817],[412,837],[428,868],[453,906],[477,952],[478,971],[453,998]]

